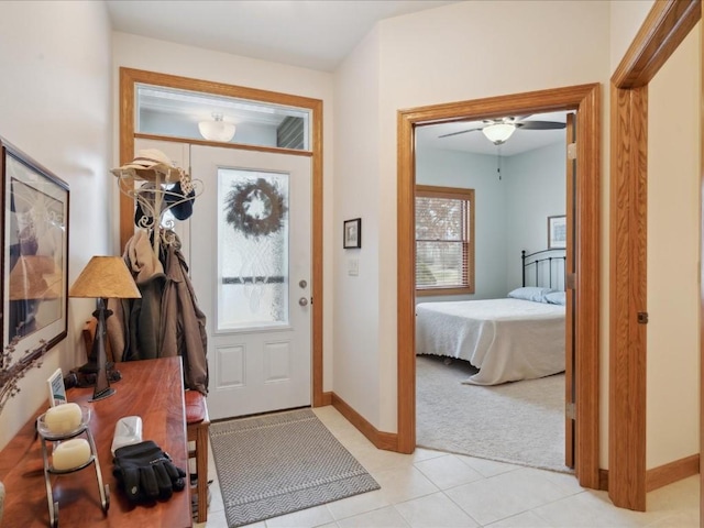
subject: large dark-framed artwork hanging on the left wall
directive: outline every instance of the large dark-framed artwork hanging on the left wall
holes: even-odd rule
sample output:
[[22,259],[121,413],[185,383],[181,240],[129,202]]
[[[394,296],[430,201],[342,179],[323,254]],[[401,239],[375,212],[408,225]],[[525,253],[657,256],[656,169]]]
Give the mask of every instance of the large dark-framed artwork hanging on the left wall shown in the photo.
[[0,138],[2,345],[48,350],[67,334],[68,185]]

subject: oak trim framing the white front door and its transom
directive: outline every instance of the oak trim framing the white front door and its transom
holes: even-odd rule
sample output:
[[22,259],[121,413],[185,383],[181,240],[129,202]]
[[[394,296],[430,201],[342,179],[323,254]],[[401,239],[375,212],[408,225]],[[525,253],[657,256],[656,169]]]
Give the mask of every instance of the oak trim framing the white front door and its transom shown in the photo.
[[[175,75],[158,74],[132,68],[120,68],[120,164],[132,161],[134,155],[134,138],[138,135],[134,130],[134,85],[142,82],[146,85],[165,86],[184,90],[202,91],[219,96],[235,97],[241,99],[252,99],[275,105],[306,108],[311,112],[311,151],[301,155],[311,155],[312,169],[312,277],[311,277],[311,310],[312,310],[312,406],[324,405],[322,393],[322,361],[323,361],[323,268],[322,268],[322,101],[309,97],[293,96],[275,91],[258,90],[241,86],[212,82],[201,79],[191,79]],[[158,136],[160,140],[168,138]],[[222,146],[221,143],[209,143],[195,141],[198,144],[210,144]],[[246,148],[243,146],[243,148]],[[283,152],[290,154],[290,148],[265,148],[266,152]],[[134,233],[133,224],[134,204],[123,194],[120,194],[120,248],[124,248],[128,240]]]

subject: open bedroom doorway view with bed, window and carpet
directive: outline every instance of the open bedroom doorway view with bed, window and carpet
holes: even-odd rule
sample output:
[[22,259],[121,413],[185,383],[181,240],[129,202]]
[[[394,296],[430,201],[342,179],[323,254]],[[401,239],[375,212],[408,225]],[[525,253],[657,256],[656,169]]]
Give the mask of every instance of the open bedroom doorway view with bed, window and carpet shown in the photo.
[[[416,130],[418,447],[563,473],[574,465],[573,420],[564,418],[570,321],[559,305],[574,202],[571,118],[524,116],[499,144],[481,132],[483,121]],[[465,207],[461,193],[471,193]],[[452,239],[464,224],[460,252]],[[557,294],[532,298],[535,287]]]

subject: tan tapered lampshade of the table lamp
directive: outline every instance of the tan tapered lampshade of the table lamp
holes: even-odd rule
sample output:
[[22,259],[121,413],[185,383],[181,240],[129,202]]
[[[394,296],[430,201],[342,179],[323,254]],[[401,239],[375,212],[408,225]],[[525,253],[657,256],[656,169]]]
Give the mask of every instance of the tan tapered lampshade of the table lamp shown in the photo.
[[70,287],[69,297],[136,299],[142,297],[120,256],[94,256]]

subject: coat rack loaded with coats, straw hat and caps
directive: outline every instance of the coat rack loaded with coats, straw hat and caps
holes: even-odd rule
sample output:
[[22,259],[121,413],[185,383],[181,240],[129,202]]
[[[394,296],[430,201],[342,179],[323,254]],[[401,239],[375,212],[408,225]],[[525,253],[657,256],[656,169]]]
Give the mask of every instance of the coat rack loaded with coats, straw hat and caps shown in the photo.
[[[188,365],[184,370],[185,386],[206,395],[206,316],[198,307],[178,238],[170,231],[174,219],[186,220],[190,217],[195,199],[204,191],[204,184],[191,179],[183,168],[174,166],[168,156],[156,148],[138,151],[132,162],[112,169],[111,173],[118,177],[120,191],[135,201],[135,224],[142,228],[128,242],[129,248],[125,248],[123,254],[125,263],[134,256],[132,250],[139,251],[144,257],[152,252],[154,257],[145,266],[138,265],[140,271],[133,268],[132,261],[128,263],[133,275],[136,274],[138,287],[144,285],[144,289],[141,289],[141,302],[108,300],[113,314],[108,331],[111,334],[112,350],[118,351],[122,361],[183,355]],[[170,215],[165,219],[166,211],[170,211],[174,219]],[[145,235],[148,232],[152,234],[151,242],[148,234]],[[140,277],[142,272],[144,275]],[[151,287],[156,284],[152,280],[161,282],[163,286],[157,284]],[[157,308],[146,309],[142,317],[145,305]],[[183,330],[184,334],[179,334],[176,329]]]

